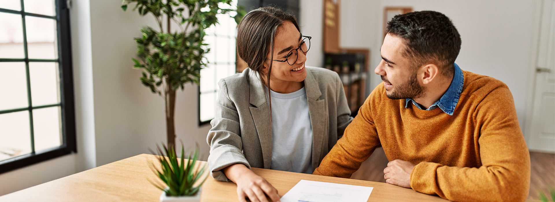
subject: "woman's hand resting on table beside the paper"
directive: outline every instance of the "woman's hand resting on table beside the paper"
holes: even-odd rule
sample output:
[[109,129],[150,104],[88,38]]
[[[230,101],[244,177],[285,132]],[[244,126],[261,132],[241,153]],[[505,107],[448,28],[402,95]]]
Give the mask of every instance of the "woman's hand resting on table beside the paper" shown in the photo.
[[280,201],[278,190],[244,164],[230,165],[224,168],[223,172],[228,179],[237,184],[239,201],[246,202],[245,198],[249,198],[253,202],[269,202],[266,195],[274,202]]

